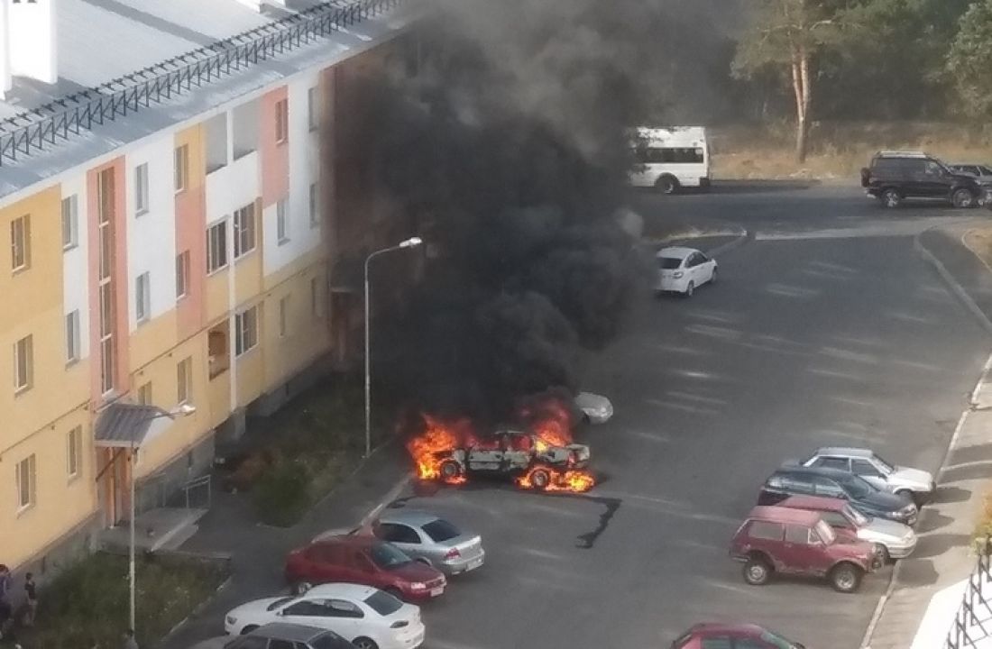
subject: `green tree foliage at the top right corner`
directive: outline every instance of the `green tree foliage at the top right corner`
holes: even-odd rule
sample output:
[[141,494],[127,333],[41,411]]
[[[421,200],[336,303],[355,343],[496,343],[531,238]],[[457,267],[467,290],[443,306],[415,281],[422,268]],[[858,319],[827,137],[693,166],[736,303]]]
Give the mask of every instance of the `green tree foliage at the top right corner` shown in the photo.
[[961,18],[947,71],[968,115],[992,115],[992,0],[975,2]]

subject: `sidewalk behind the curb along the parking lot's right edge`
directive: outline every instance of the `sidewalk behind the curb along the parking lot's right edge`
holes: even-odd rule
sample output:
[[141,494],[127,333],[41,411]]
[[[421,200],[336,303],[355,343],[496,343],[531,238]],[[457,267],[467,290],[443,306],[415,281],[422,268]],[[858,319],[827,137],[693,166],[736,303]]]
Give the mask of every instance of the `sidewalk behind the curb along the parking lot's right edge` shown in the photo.
[[[917,246],[992,330],[992,271],[961,243],[967,229],[929,230],[917,239]],[[984,403],[989,380],[986,373],[971,395],[971,409],[958,422],[936,478],[936,496],[921,515],[920,543],[910,559],[897,565],[889,593],[876,611],[880,614],[866,634],[866,649],[944,646],[960,603],[960,584],[975,567],[969,542],[992,478],[992,410],[986,409],[992,403]]]

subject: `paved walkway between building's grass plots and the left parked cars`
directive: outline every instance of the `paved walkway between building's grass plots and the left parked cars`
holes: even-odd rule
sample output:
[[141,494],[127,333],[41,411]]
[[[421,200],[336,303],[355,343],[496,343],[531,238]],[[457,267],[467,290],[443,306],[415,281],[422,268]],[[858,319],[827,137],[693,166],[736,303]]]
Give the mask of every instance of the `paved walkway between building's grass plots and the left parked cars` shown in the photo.
[[287,553],[320,532],[356,527],[384,499],[395,497],[394,488],[408,475],[409,466],[403,446],[388,443],[290,528],[257,523],[249,494],[217,493],[196,535],[182,550],[230,555],[232,579],[159,646],[188,649],[200,640],[223,635],[228,610],[249,599],[286,592],[283,561]]

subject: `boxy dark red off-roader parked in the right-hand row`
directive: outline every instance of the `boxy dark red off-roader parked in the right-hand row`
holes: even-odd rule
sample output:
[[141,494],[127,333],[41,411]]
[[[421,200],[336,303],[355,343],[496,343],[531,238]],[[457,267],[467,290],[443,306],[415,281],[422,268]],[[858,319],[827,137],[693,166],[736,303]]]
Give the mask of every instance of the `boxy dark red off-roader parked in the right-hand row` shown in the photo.
[[781,573],[825,578],[841,593],[857,591],[879,560],[874,544],[839,540],[814,511],[761,505],[737,529],[730,556],[744,562],[751,586]]

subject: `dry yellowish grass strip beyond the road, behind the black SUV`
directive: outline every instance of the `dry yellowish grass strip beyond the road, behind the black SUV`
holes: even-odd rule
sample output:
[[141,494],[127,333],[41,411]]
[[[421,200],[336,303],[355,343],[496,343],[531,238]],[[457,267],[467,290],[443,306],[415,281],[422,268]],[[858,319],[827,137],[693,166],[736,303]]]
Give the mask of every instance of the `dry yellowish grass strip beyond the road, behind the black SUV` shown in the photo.
[[816,122],[799,163],[790,122],[712,130],[713,173],[726,179],[857,177],[880,150],[923,150],[945,162],[992,162],[992,129],[932,122]]

